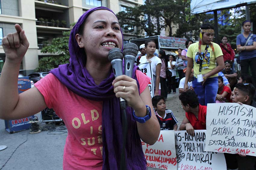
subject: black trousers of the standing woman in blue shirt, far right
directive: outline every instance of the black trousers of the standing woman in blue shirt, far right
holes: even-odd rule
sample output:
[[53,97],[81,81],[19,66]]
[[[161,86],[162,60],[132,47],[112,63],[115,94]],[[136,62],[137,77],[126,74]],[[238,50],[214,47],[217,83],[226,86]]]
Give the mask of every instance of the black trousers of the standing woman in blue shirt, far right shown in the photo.
[[251,78],[254,87],[256,87],[256,57],[240,61],[241,75],[249,74],[249,67],[251,69]]

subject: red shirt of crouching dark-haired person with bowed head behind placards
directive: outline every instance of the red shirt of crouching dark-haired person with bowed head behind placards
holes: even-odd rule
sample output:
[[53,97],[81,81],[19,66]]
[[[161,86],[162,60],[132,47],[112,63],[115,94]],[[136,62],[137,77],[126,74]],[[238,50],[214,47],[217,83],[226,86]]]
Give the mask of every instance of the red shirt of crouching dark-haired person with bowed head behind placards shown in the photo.
[[207,106],[202,106],[199,104],[198,118],[196,118],[194,113],[186,112],[186,117],[195,130],[206,129],[206,110],[207,110]]

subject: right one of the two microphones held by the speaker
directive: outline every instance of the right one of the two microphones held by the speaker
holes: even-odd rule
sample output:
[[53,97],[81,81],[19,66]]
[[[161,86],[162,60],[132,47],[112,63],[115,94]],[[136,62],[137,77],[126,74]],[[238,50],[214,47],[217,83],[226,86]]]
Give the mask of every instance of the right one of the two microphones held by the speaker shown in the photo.
[[139,49],[135,43],[127,43],[123,46],[124,58],[124,74],[126,76],[133,76],[133,65]]

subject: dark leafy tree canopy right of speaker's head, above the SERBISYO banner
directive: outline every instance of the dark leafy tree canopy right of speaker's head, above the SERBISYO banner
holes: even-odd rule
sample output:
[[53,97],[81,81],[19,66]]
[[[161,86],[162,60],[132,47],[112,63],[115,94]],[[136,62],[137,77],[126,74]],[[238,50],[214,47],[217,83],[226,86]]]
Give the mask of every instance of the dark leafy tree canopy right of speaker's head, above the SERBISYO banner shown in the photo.
[[[199,31],[201,22],[213,16],[211,14],[192,15],[190,1],[187,0],[146,0],[145,5],[127,7],[127,12],[119,12],[117,17],[125,32],[136,26],[140,28],[135,34],[145,31],[147,36],[159,35],[160,31],[168,28],[168,36],[190,38]],[[176,34],[172,35],[172,25],[176,25]],[[187,34],[190,32],[191,34]],[[198,33],[199,34],[199,33]]]

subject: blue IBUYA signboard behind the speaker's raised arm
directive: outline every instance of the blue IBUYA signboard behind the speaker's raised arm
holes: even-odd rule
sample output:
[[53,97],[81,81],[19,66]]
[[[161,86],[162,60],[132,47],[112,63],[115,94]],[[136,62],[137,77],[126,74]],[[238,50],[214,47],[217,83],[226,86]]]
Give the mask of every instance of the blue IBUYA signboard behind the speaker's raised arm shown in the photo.
[[[28,76],[18,78],[19,94],[30,88],[31,88],[31,84]],[[27,118],[17,119],[17,120],[5,120],[5,130],[9,133],[15,133],[21,130],[27,130],[30,128],[29,121],[33,118],[34,118],[34,115]]]

